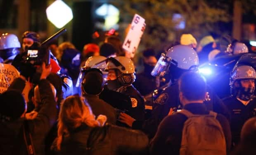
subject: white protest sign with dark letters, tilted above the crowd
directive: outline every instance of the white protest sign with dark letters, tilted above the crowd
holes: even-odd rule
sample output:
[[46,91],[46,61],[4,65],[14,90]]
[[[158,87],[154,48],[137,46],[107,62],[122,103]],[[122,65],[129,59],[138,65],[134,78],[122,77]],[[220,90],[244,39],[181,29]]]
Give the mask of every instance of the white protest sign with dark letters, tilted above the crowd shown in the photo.
[[126,35],[126,39],[123,42],[123,49],[125,49],[126,52],[130,54],[131,58],[133,58],[135,55],[135,51],[139,46],[140,39],[145,28],[145,19],[143,19],[138,14],[135,14],[130,26],[130,30]]

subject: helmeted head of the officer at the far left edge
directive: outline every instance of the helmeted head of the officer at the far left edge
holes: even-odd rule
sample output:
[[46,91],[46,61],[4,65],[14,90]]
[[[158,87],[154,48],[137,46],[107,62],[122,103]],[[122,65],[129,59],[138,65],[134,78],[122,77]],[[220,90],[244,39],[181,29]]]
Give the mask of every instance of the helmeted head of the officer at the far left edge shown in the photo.
[[0,58],[3,63],[10,64],[17,54],[21,44],[16,35],[11,33],[3,33],[0,36]]

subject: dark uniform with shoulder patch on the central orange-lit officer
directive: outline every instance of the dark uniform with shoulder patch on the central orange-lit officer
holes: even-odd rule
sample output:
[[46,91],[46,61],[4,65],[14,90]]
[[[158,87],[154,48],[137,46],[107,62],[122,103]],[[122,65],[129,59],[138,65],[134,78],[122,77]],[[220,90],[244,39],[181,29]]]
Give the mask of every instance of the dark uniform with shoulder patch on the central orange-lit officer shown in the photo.
[[123,86],[119,88],[118,92],[130,96],[131,108],[127,112],[128,115],[136,120],[144,120],[145,117],[145,102],[140,93],[133,87],[133,85]]

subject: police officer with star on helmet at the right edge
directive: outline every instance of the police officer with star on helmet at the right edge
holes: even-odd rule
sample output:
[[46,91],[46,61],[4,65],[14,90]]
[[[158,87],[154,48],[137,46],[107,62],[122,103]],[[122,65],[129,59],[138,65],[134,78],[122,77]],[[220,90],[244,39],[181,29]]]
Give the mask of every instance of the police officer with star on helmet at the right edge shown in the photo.
[[232,142],[236,145],[244,123],[256,116],[254,96],[256,72],[247,65],[235,66],[231,72],[230,88],[232,95],[223,102],[231,113]]

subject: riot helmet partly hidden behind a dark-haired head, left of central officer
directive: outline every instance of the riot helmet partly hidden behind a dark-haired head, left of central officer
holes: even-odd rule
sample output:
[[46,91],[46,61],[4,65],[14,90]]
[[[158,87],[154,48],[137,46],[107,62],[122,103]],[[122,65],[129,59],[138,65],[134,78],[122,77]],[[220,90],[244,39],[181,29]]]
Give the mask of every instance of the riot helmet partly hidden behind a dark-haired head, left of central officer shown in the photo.
[[78,80],[76,82],[76,87],[79,87],[81,82],[83,81],[84,73],[86,70],[91,68],[99,69],[102,72],[102,76],[104,81],[106,81],[107,72],[104,72],[104,69],[107,66],[106,57],[104,56],[91,56],[85,61],[85,66],[81,68],[80,74],[78,76]]

